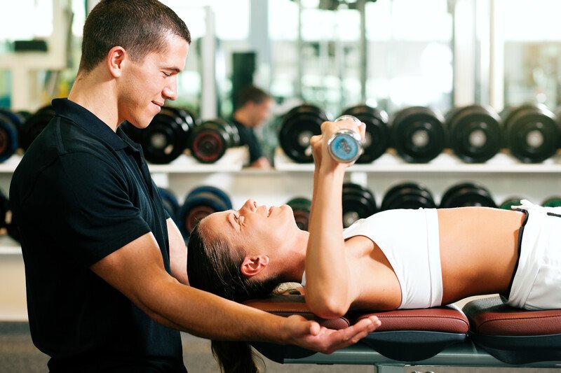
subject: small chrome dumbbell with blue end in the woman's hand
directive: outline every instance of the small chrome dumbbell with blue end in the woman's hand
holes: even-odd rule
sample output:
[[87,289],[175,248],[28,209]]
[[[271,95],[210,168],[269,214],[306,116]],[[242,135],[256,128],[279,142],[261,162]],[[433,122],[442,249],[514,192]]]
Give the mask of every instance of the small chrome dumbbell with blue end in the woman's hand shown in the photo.
[[[361,122],[358,118],[353,117],[353,115],[342,115],[335,120],[353,120],[356,125],[360,126]],[[362,141],[360,139],[360,134],[351,129],[339,129],[339,131],[332,134],[330,139],[327,141],[327,150],[331,157],[337,162],[341,163],[351,163],[360,157],[362,154]]]

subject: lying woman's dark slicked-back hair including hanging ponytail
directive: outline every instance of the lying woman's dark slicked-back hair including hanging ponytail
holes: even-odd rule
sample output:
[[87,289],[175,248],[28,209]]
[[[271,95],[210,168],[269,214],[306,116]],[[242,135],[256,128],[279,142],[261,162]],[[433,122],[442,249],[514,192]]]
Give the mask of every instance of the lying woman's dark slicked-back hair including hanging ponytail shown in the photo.
[[[276,278],[257,281],[241,273],[245,253],[230,248],[219,237],[209,237],[204,219],[189,235],[187,275],[189,285],[235,302],[269,295],[278,286]],[[212,353],[224,373],[257,373],[255,354],[246,342],[212,341]]]

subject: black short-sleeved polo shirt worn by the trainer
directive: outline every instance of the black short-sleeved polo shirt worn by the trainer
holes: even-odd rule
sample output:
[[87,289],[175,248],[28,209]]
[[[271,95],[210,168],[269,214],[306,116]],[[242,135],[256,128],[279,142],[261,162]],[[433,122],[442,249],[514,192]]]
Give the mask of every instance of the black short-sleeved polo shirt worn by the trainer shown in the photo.
[[180,332],[89,267],[152,232],[170,272],[163,209],[140,146],[67,99],[13,174],[34,344],[51,372],[186,372]]

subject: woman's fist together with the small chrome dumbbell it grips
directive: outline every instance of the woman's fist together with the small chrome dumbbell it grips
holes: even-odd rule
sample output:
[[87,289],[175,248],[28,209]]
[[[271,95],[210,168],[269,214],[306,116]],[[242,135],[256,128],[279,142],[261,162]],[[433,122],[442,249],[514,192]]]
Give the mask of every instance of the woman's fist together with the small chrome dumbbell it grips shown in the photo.
[[321,164],[322,153],[337,163],[353,164],[362,154],[365,124],[352,115],[342,115],[333,122],[321,125],[321,135],[312,136],[311,147],[316,167]]

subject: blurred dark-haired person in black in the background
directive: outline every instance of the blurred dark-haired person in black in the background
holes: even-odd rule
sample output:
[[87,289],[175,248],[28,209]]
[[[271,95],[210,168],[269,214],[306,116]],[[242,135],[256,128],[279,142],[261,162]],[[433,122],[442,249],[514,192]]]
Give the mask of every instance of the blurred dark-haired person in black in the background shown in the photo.
[[264,90],[249,86],[241,90],[236,101],[236,110],[231,120],[238,127],[241,145],[247,145],[249,148],[249,167],[271,169],[271,162],[263,155],[255,128],[261,127],[271,118],[273,99]]

